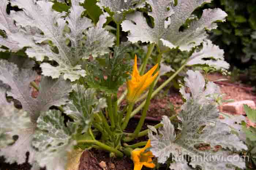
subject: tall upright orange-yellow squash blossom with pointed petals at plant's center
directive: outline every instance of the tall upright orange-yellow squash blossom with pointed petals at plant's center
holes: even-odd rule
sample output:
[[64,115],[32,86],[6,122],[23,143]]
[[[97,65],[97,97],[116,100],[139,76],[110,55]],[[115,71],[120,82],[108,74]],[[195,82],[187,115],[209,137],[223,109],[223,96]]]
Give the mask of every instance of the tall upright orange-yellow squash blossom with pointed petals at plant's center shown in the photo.
[[154,71],[157,69],[158,64],[152,67],[146,74],[140,76],[140,73],[137,68],[137,56],[134,58],[134,65],[132,71],[132,79],[127,81],[127,100],[128,102],[135,102],[136,99],[146,90],[151,83],[157,78],[158,72],[154,75]]

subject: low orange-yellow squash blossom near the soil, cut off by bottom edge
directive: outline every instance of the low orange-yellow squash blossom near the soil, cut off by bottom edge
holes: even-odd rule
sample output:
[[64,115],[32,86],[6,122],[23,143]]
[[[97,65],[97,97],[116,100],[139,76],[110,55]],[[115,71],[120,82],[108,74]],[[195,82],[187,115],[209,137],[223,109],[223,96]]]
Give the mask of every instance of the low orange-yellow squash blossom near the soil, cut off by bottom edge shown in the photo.
[[150,140],[147,141],[147,144],[145,147],[140,149],[135,149],[132,151],[132,161],[134,163],[134,170],[141,170],[142,166],[146,166],[148,168],[154,168],[155,164],[152,162],[152,158],[154,155],[151,151],[148,151],[146,153],[145,150],[151,147]]

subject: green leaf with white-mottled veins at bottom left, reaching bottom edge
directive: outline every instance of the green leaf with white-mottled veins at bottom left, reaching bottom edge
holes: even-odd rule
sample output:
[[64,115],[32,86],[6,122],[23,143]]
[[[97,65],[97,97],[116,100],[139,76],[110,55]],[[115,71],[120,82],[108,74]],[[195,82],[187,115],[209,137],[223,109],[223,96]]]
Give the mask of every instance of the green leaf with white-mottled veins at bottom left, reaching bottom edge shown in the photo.
[[64,117],[57,110],[41,114],[37,120],[38,131],[34,134],[33,146],[39,150],[36,160],[47,170],[65,170],[68,151],[76,144],[72,135],[76,132],[74,123],[64,123]]

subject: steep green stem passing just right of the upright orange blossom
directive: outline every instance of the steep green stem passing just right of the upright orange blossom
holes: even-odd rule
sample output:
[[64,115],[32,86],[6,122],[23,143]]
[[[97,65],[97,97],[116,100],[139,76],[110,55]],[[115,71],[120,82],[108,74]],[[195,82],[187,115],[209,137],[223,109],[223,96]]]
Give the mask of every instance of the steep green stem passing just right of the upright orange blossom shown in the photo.
[[[155,73],[158,71],[159,69],[159,66],[160,66],[160,62],[161,62],[161,58],[162,58],[162,54],[160,53],[158,56],[157,56],[157,64],[158,64],[158,68],[155,70]],[[155,82],[156,80],[154,80]],[[150,100],[151,100],[151,95],[153,93],[153,90],[154,90],[154,82],[150,85],[150,89],[148,91],[148,95],[147,95],[147,99],[146,99],[146,103],[144,105],[144,108],[143,108],[143,111],[142,111],[142,115],[140,117],[140,120],[139,120],[139,123],[135,129],[135,131],[133,132],[133,138],[136,138],[138,137],[138,134],[140,132],[140,130],[142,129],[142,126],[143,126],[143,123],[145,121],[145,118],[147,116],[147,110],[149,108],[149,105],[150,105]]]

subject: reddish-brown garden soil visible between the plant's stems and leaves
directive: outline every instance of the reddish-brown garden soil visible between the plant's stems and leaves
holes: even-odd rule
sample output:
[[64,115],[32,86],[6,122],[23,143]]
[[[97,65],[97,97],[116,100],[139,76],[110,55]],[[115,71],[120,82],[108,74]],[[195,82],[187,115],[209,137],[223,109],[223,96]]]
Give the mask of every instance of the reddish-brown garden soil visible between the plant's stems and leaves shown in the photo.
[[[217,80],[221,78],[229,78],[219,74],[213,74],[208,76],[208,80]],[[230,81],[216,82],[221,87],[222,93],[225,93],[224,99],[240,100],[253,100],[256,102],[256,94],[253,92],[253,88],[241,83],[234,83]],[[122,88],[120,89],[123,90]],[[147,119],[143,126],[143,130],[147,128],[147,125],[155,125],[161,121],[162,115],[172,116],[180,110],[182,105],[182,98],[179,92],[173,88],[167,89],[167,95],[160,93],[151,100],[151,105],[148,110]],[[124,103],[123,103],[124,104]],[[139,104],[139,103],[138,103]],[[137,105],[138,105],[137,104]],[[222,111],[222,108],[220,107]],[[133,132],[140,118],[140,113],[129,121],[126,131]],[[147,141],[146,137],[136,139],[136,142]],[[102,168],[99,163],[103,161],[106,166]],[[29,163],[23,163],[22,165],[4,163],[4,158],[0,157],[0,170],[29,170],[31,166]],[[161,170],[165,170],[166,167],[162,167]],[[43,170],[43,169],[41,169]],[[133,162],[127,156],[123,158],[110,158],[109,153],[102,150],[91,149],[89,152],[83,153],[80,158],[79,170],[133,170]],[[142,170],[149,170],[143,167]]]

